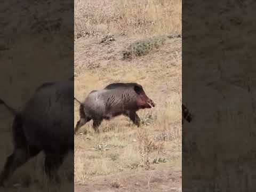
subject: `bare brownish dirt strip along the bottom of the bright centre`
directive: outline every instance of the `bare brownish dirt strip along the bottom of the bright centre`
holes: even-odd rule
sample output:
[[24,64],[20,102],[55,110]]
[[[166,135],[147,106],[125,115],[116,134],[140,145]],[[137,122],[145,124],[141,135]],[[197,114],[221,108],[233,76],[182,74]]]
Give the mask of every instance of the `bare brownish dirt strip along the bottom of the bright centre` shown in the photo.
[[129,171],[95,177],[84,185],[75,185],[75,191],[181,191],[180,167],[158,166],[156,170]]

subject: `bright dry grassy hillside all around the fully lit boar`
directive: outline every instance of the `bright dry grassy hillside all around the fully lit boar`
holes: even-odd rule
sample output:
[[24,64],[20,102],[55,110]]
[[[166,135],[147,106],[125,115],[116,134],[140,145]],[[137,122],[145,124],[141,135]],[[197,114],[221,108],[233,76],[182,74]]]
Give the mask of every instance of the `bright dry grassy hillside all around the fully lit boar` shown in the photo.
[[[179,34],[181,1],[75,1],[75,97],[83,100],[114,82],[137,82],[156,103],[139,111],[139,128],[123,116],[103,121],[100,134],[92,122],[81,127],[75,190],[180,189]],[[75,102],[75,124],[78,108]]]

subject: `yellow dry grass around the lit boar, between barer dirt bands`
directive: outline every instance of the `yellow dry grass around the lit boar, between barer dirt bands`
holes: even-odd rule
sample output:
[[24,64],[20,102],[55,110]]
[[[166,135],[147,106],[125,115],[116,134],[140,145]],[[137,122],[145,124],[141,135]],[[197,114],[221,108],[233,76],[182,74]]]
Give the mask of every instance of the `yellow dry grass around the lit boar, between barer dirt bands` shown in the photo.
[[[165,46],[162,50],[166,50]],[[164,163],[166,166],[173,163],[180,166],[180,55],[179,59],[171,57],[169,62],[175,63],[172,66],[162,63],[162,59],[155,53],[150,53],[148,57],[153,58],[152,63],[147,63],[149,58],[145,57],[142,60],[134,59],[129,65],[124,64],[127,61],[118,60],[115,65],[105,67],[100,63],[97,67],[88,69],[86,66],[90,64],[84,61],[83,63],[87,64],[81,63],[76,67],[78,76],[75,77],[75,96],[79,100],[83,100],[90,91],[102,89],[109,83],[138,82],[144,87],[148,97],[155,101],[157,107],[139,111],[141,128],[134,126],[123,116],[109,122],[103,121],[99,135],[93,132],[92,122],[81,127],[80,132],[86,134],[75,136],[75,182],[86,183],[99,175],[154,169],[154,162]],[[97,62],[99,61],[95,61]],[[135,67],[136,63],[140,63],[138,67]],[[78,121],[78,117],[78,103],[75,102],[74,123]],[[140,148],[142,143],[144,146]],[[146,158],[142,157],[144,154]],[[147,162],[147,159],[150,166],[140,167],[139,165]],[[161,159],[166,161],[161,162]]]

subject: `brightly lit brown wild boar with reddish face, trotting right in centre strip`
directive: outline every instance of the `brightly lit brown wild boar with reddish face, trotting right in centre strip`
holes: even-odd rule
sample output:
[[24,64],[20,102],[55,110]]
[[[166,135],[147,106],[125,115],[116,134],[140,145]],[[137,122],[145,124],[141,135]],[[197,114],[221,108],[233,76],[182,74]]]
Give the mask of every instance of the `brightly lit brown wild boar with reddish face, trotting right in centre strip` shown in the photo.
[[109,84],[102,90],[91,91],[84,102],[78,102],[80,119],[75,133],[91,119],[94,131],[99,132],[98,127],[103,119],[109,120],[119,115],[129,117],[139,127],[140,118],[136,111],[155,107],[153,100],[147,97],[143,87],[137,83]]

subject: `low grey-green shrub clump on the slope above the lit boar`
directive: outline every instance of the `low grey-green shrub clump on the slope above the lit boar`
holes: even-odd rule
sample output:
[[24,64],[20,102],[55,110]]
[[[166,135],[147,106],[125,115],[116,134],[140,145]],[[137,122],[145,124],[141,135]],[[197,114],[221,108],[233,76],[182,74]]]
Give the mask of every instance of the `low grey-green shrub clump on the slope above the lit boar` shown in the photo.
[[150,51],[158,49],[160,46],[162,46],[164,41],[164,37],[152,37],[136,41],[127,47],[125,51],[123,51],[123,59],[131,59],[134,57],[147,55],[150,53]]

